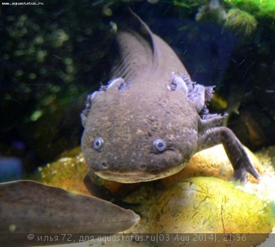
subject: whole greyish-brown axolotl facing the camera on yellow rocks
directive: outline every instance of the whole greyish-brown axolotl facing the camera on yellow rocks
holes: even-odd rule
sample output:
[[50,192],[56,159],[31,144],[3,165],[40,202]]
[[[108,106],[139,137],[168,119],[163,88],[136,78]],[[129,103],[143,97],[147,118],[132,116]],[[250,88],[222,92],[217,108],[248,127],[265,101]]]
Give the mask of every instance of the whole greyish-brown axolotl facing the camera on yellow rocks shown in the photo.
[[[207,108],[213,86],[192,82],[173,49],[133,14],[115,34],[111,80],[88,95],[81,119],[89,169],[107,180],[137,183],[179,172],[200,150],[223,144],[234,180],[260,178],[225,115]],[[131,28],[130,28],[131,27]]]

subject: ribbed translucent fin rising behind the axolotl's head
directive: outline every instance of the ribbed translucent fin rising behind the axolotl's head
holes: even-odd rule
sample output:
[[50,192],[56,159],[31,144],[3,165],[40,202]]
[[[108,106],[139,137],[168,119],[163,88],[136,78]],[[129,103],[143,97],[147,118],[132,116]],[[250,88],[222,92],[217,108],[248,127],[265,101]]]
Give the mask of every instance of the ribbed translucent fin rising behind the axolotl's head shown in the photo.
[[125,81],[140,71],[153,71],[159,59],[153,33],[137,14],[130,12],[126,25],[118,27],[115,40],[120,56],[112,70],[112,78],[122,77]]

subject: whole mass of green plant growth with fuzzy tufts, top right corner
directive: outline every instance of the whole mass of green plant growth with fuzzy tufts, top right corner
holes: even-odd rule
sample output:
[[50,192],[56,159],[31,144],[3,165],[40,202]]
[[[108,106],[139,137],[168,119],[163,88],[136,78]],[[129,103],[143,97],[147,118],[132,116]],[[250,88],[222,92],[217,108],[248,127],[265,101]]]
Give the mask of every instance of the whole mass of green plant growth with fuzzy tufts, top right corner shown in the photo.
[[275,19],[274,0],[174,0],[181,8],[197,8],[197,21],[223,25],[241,36],[250,36],[257,27],[257,19]]

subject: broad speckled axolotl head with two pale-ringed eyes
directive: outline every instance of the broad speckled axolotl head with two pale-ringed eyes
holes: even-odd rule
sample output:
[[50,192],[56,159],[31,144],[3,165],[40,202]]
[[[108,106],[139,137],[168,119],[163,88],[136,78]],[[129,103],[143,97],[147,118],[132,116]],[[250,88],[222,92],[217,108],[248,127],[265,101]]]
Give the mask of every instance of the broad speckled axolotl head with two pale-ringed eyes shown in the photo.
[[197,112],[177,91],[165,97],[148,92],[141,97],[130,89],[99,91],[88,97],[81,117],[87,165],[108,180],[136,183],[170,176],[186,166],[197,145]]

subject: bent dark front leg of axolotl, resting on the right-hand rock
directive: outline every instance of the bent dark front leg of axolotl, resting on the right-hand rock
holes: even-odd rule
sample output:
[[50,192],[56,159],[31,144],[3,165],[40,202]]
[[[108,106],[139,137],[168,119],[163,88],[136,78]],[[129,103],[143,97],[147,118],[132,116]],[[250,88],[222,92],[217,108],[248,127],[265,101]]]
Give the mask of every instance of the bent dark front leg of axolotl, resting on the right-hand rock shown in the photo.
[[198,137],[197,151],[210,148],[220,143],[223,144],[223,148],[232,163],[234,169],[234,180],[241,180],[241,182],[245,182],[245,177],[248,172],[257,179],[261,178],[250,162],[243,145],[229,128],[210,128],[206,130],[206,132],[203,132],[203,134],[200,134]]

